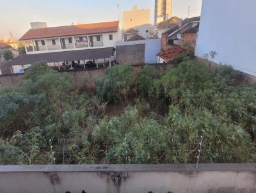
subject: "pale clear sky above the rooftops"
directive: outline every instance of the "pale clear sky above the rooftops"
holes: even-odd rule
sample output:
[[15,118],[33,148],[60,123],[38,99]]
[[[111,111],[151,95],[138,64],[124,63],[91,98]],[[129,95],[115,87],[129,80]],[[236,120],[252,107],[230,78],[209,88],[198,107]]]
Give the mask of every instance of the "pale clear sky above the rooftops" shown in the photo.
[[[47,22],[48,27],[122,20],[122,12],[150,9],[154,24],[154,0],[0,0],[0,35],[20,38],[30,22]],[[200,15],[202,0],[173,0],[172,15],[180,18]]]

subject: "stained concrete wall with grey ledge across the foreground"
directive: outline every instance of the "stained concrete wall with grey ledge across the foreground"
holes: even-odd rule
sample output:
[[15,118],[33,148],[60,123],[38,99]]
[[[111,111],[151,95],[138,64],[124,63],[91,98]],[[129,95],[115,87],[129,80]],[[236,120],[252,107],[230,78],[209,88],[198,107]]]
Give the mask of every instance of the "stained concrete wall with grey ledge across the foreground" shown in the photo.
[[0,166],[4,193],[255,193],[256,164]]

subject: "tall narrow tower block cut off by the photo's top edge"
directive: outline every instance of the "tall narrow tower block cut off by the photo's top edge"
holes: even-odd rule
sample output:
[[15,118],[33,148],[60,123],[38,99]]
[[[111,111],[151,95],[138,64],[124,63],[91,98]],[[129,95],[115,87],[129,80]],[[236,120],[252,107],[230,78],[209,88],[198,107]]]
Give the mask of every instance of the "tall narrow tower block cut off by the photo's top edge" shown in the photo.
[[155,25],[172,17],[172,0],[155,0]]

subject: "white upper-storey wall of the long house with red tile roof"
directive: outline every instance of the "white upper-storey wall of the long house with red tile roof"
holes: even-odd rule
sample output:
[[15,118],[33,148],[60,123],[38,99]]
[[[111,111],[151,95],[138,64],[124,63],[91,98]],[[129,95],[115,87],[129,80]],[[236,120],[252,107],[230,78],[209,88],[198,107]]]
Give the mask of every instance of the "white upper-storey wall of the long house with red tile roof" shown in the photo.
[[[75,47],[74,44],[76,43],[77,37],[80,36],[93,36],[93,42],[97,42],[97,35],[100,36],[100,41],[103,42],[103,46],[95,46],[95,47]],[[112,40],[109,40],[109,35],[113,36]],[[67,49],[61,49],[60,47],[60,38],[65,38],[65,43]],[[72,43],[68,42],[68,38],[72,38]],[[52,39],[56,41],[56,45],[52,45]],[[38,41],[38,46],[41,48],[40,51],[31,51],[27,54],[40,54],[40,53],[47,53],[47,52],[61,52],[61,51],[70,51],[70,50],[83,50],[83,49],[99,49],[99,48],[105,48],[105,47],[115,47],[115,43],[119,40],[122,40],[122,33],[120,29],[118,28],[118,31],[110,32],[110,33],[100,33],[100,34],[93,34],[93,35],[76,35],[76,36],[65,36],[65,37],[52,37],[52,38],[46,38],[46,39],[36,39]],[[45,40],[45,45],[47,47],[47,50],[45,46],[42,46],[41,40]],[[35,41],[35,40],[25,40],[27,41]],[[89,41],[89,38],[88,38]],[[51,49],[48,49],[51,47]],[[44,49],[45,48],[45,49]]]

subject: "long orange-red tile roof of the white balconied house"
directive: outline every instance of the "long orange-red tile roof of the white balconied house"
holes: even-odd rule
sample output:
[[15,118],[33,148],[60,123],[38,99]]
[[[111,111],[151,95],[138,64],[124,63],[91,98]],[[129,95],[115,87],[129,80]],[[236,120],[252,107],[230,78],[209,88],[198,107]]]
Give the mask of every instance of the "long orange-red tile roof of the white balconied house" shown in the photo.
[[102,22],[94,24],[79,24],[73,26],[46,27],[40,29],[29,29],[20,40],[36,38],[51,38],[60,36],[88,35],[95,33],[108,33],[118,31],[118,21]]

